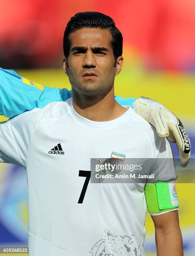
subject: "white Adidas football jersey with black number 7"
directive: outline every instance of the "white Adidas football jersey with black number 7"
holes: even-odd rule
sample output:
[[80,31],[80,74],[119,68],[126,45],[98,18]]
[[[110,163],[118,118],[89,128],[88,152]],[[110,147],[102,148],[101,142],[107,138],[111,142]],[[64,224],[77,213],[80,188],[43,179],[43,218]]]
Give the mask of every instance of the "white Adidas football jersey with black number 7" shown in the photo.
[[0,161],[27,171],[29,256],[145,255],[145,184],[86,185],[82,175],[91,158],[109,159],[112,152],[165,158],[162,172],[173,157],[168,141],[131,107],[95,122],[76,113],[69,99],[0,124]]

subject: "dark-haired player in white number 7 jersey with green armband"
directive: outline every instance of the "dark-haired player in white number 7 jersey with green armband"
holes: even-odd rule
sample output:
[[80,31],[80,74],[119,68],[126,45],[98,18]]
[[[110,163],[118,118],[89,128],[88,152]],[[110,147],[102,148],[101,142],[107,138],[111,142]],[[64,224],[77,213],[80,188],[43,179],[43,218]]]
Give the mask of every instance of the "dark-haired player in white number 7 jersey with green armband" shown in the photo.
[[[143,256],[147,206],[158,255],[183,255],[175,184],[167,183],[177,177],[170,145],[114,99],[123,63],[114,21],[77,13],[65,29],[64,54],[72,98],[0,125],[0,161],[27,170],[29,256]],[[111,155],[124,163],[154,159],[148,175],[165,175],[148,184],[89,182],[90,159]]]

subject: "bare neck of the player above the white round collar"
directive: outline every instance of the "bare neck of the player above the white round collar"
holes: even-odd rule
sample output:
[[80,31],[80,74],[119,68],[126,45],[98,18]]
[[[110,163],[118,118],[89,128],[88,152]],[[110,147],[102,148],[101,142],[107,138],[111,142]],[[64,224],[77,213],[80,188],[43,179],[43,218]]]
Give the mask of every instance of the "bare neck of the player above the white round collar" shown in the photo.
[[113,120],[127,111],[115,101],[113,86],[94,94],[72,88],[72,105],[79,115],[97,122]]

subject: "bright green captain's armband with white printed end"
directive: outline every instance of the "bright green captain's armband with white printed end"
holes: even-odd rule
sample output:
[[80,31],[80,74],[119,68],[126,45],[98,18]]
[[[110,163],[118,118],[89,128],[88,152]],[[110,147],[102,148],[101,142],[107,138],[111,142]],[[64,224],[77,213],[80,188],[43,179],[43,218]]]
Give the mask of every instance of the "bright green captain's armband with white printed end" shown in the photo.
[[145,185],[148,212],[165,212],[179,206],[175,183],[155,182]]

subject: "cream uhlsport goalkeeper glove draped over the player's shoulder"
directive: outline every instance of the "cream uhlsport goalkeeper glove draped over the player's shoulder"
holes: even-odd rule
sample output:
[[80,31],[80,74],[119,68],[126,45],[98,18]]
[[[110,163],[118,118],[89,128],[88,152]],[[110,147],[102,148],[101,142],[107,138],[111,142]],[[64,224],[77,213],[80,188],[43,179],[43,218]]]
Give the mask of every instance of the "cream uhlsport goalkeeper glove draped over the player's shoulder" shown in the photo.
[[160,137],[167,137],[177,144],[180,153],[180,166],[190,161],[190,139],[179,118],[157,101],[140,97],[133,104],[135,113],[153,125]]

